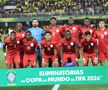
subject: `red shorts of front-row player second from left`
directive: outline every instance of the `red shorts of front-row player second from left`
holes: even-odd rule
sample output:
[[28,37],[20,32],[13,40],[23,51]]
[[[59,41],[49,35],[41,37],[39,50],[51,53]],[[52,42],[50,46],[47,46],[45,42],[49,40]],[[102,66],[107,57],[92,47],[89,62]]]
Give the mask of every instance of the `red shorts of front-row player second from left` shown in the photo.
[[37,57],[36,54],[24,54],[23,58],[24,67],[29,66],[30,63],[33,67],[36,67],[36,57]]

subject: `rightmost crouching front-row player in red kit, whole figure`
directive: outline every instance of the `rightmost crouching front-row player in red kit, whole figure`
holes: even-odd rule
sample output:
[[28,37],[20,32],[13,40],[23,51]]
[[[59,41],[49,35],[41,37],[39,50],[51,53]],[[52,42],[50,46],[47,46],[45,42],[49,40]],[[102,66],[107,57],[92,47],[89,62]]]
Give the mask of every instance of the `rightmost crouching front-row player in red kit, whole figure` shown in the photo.
[[89,31],[85,32],[85,38],[81,41],[81,55],[83,57],[83,65],[88,66],[89,58],[92,60],[92,65],[98,65],[97,57],[97,40],[92,37]]

